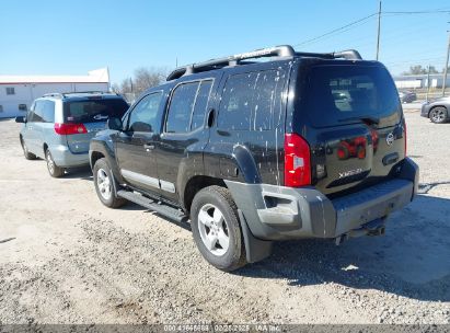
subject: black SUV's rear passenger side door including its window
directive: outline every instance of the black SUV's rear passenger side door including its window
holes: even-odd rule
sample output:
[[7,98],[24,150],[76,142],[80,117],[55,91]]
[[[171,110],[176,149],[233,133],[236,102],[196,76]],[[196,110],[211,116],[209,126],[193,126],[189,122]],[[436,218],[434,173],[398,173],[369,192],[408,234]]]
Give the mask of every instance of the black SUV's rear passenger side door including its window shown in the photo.
[[180,195],[178,176],[189,179],[196,172],[203,173],[203,150],[209,138],[206,114],[217,81],[205,78],[182,82],[172,91],[158,142],[161,193],[170,199]]

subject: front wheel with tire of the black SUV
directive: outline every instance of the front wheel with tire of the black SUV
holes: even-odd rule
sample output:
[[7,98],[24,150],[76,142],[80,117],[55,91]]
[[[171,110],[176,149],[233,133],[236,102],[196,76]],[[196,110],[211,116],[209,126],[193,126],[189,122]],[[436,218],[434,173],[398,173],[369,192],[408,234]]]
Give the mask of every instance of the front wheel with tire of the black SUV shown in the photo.
[[109,208],[118,208],[127,203],[126,199],[117,197],[118,184],[105,158],[95,162],[93,177],[96,195],[103,205]]

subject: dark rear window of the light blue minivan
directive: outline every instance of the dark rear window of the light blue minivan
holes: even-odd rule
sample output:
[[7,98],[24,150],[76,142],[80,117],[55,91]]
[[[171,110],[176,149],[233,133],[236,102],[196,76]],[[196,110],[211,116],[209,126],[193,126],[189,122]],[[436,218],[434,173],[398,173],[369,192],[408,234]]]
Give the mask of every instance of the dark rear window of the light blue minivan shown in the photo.
[[95,99],[66,102],[65,123],[106,122],[108,117],[122,118],[128,104],[120,99]]

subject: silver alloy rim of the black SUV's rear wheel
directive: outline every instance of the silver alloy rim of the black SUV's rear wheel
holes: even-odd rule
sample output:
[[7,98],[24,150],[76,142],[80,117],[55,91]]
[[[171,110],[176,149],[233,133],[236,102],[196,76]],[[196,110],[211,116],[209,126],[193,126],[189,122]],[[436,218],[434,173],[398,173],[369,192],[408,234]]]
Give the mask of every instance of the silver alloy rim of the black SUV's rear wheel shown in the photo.
[[217,256],[226,254],[230,246],[229,227],[220,209],[206,204],[198,211],[197,220],[201,241],[208,251]]

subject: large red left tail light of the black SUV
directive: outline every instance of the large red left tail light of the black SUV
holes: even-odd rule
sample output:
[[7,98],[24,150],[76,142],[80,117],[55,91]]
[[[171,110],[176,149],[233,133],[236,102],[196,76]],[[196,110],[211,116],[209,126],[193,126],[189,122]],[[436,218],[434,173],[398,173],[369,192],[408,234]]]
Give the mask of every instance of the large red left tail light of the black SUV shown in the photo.
[[311,185],[311,153],[307,140],[297,134],[285,135],[285,186]]

